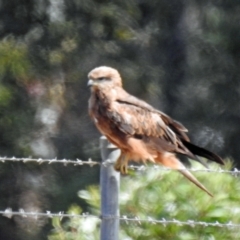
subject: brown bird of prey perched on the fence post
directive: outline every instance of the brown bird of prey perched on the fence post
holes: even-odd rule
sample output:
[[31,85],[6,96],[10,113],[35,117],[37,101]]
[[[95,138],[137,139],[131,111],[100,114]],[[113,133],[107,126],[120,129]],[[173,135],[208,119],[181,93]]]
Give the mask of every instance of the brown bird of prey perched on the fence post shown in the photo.
[[197,161],[197,156],[201,156],[224,164],[218,155],[192,144],[181,123],[126,92],[116,69],[94,68],[88,79],[90,117],[98,130],[121,150],[115,163],[117,171],[126,174],[129,160],[144,163],[148,160],[178,170],[212,196],[176,154]]

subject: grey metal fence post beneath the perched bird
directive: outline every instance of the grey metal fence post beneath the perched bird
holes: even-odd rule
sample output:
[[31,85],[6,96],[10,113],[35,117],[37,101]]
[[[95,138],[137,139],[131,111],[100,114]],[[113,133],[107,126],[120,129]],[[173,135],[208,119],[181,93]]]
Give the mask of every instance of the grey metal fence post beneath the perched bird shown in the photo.
[[[102,165],[100,170],[101,188],[101,240],[118,240],[119,216],[118,193],[120,174],[113,168],[120,150],[110,144],[106,137],[100,138]],[[104,162],[106,163],[104,165]]]

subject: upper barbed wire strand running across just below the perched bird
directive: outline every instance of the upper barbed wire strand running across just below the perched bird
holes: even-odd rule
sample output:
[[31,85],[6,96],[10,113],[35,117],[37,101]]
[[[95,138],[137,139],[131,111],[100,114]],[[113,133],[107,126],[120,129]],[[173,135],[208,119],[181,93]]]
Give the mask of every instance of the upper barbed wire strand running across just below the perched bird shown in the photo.
[[[0,162],[5,163],[5,162],[23,162],[23,163],[29,163],[29,162],[35,162],[38,164],[53,164],[53,163],[60,163],[63,164],[64,166],[67,165],[73,165],[73,166],[82,166],[82,165],[88,165],[90,167],[93,166],[100,166],[103,165],[107,167],[109,164],[113,164],[112,161],[106,160],[103,163],[99,161],[93,161],[91,158],[88,160],[71,160],[71,159],[43,159],[43,158],[32,158],[32,157],[27,157],[27,158],[16,158],[16,157],[0,157]],[[161,170],[161,171],[177,171],[176,169],[171,169],[171,168],[166,168],[161,165],[129,165],[129,169],[134,170],[134,171],[147,171],[148,169],[154,169],[154,170]],[[224,170],[222,168],[218,169],[197,169],[197,168],[186,168],[188,171],[191,172],[205,172],[205,173],[229,173],[234,176],[239,176],[240,175],[240,170],[237,168],[234,168],[233,170]]]

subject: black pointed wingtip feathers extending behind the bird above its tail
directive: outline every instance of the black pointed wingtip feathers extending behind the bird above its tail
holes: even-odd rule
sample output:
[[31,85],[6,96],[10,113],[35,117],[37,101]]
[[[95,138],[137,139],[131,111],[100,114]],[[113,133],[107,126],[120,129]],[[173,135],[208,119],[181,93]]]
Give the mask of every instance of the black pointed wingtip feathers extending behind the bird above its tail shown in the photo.
[[198,155],[201,157],[205,157],[209,160],[212,160],[213,162],[219,163],[224,165],[224,162],[222,158],[220,158],[217,154],[212,153],[204,148],[198,147],[190,142],[182,140],[184,146],[189,149],[190,152],[192,152],[194,155]]

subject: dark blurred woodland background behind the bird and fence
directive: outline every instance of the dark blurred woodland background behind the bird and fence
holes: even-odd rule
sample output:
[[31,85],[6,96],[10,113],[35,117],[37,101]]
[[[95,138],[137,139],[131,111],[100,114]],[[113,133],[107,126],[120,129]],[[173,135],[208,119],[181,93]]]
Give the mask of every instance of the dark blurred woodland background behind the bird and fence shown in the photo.
[[[240,167],[239,13],[237,0],[2,1],[0,155],[99,160],[86,82],[108,65],[193,142]],[[77,192],[98,179],[97,167],[4,163],[0,209],[85,210]],[[38,240],[52,226],[0,217],[0,229],[0,239]]]

